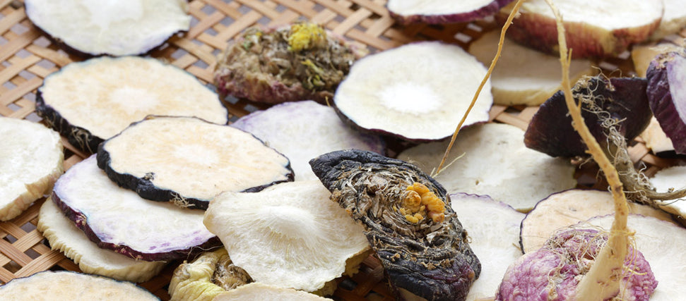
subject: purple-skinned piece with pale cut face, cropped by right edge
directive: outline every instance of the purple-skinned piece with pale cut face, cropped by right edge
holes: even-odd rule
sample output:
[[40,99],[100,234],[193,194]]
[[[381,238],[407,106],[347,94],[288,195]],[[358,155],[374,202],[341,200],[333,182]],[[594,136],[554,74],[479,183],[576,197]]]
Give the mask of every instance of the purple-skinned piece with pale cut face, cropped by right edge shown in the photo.
[[648,67],[650,109],[677,154],[686,154],[686,58],[684,51],[657,56]]

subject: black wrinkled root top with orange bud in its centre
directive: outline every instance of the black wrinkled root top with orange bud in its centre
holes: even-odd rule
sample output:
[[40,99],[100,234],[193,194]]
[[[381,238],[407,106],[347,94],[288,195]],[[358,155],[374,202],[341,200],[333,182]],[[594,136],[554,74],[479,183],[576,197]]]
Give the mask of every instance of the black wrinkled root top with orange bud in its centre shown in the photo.
[[446,190],[419,168],[356,149],[309,162],[365,235],[401,300],[464,300],[481,271]]

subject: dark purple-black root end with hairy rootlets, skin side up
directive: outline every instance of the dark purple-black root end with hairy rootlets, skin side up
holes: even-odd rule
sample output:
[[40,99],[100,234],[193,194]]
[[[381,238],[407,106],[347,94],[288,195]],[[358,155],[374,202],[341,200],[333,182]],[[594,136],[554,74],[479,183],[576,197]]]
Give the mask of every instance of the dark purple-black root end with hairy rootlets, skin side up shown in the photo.
[[[634,139],[648,126],[652,117],[646,84],[644,78],[611,78],[608,82],[600,77],[581,79],[576,83],[572,92],[577,104],[579,95],[584,95],[581,97],[581,116],[601,145],[608,144],[606,126],[593,111],[607,112],[602,113],[603,117],[609,115],[618,122],[620,134],[629,141]],[[584,101],[588,99],[593,100],[597,107],[591,108]],[[531,118],[524,133],[524,144],[550,156],[586,156],[586,144],[572,128],[572,118],[562,91],[552,95]]]

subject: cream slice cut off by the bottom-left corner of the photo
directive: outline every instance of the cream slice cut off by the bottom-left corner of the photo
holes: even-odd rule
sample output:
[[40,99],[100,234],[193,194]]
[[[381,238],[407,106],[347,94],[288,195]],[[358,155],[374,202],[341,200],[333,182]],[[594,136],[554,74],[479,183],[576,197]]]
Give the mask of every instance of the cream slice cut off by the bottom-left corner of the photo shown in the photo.
[[42,271],[0,286],[2,300],[160,300],[134,283],[71,271]]

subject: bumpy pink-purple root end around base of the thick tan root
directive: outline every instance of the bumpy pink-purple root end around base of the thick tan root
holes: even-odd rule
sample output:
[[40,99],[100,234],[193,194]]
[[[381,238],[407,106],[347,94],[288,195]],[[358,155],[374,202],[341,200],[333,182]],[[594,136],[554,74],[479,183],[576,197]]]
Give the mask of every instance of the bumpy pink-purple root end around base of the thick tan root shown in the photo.
[[[555,233],[509,266],[495,300],[576,300],[576,286],[607,241],[607,233],[592,229]],[[618,300],[647,301],[658,284],[649,262],[630,246],[620,276]]]

